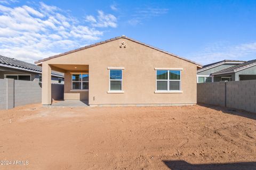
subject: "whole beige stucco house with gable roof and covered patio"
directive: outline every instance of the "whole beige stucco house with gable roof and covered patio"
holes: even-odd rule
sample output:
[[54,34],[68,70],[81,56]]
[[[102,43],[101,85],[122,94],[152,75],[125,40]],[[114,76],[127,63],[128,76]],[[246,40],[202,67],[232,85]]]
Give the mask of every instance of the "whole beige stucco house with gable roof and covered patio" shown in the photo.
[[90,106],[196,103],[193,61],[120,36],[35,62],[43,67],[42,104],[51,104],[51,71],[65,74],[65,100]]

